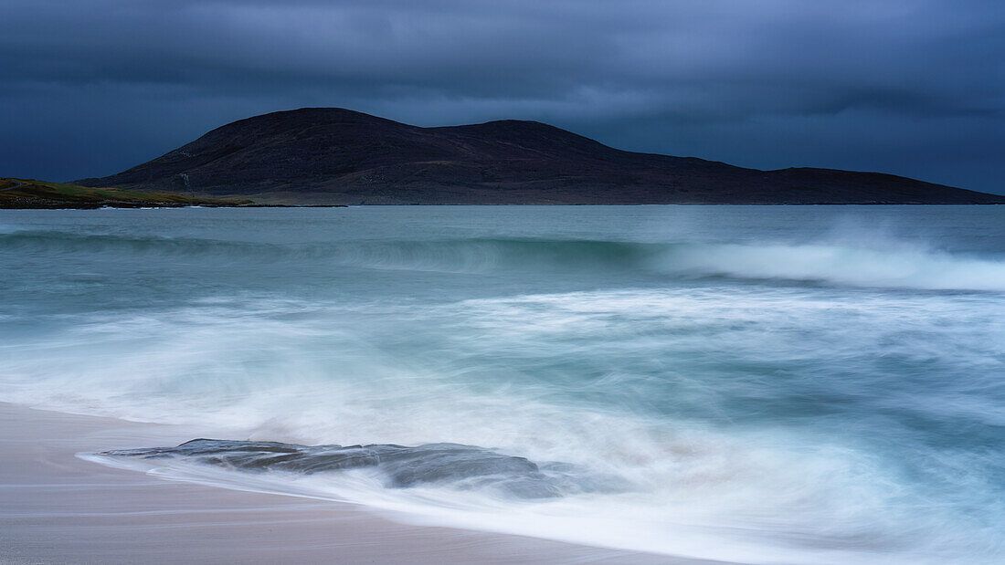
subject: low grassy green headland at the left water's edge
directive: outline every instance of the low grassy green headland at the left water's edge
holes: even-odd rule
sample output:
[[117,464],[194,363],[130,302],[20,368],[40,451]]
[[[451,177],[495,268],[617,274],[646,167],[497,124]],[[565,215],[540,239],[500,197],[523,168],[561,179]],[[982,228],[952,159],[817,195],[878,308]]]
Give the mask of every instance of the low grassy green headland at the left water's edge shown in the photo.
[[243,206],[249,200],[200,199],[175,194],[95,189],[29,179],[0,178],[0,209]]

